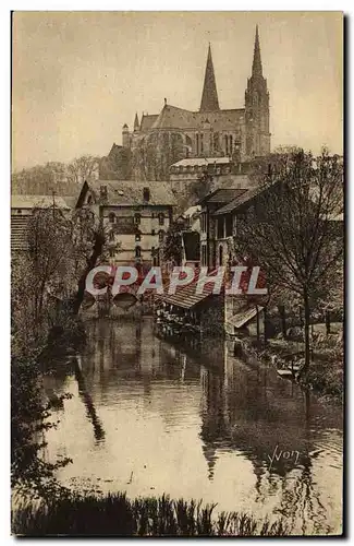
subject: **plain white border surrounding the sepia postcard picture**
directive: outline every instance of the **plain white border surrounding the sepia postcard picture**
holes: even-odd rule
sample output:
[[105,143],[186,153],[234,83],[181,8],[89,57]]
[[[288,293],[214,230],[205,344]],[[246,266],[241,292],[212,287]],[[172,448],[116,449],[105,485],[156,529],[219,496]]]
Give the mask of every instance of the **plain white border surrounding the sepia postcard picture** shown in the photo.
[[[0,335],[1,335],[1,349],[2,349],[2,358],[1,358],[1,405],[2,405],[2,412],[1,412],[1,430],[0,430],[0,438],[2,440],[2,450],[1,450],[1,509],[0,509],[0,533],[1,533],[1,544],[9,544],[12,542],[13,538],[11,538],[10,535],[10,518],[9,518],[9,510],[10,510],[10,477],[9,477],[9,468],[10,468],[10,389],[9,389],[9,363],[10,363],[10,348],[9,348],[9,339],[10,339],[10,321],[9,321],[9,309],[10,309],[10,296],[9,296],[9,280],[10,280],[10,262],[9,262],[9,256],[10,256],[10,10],[41,10],[41,11],[53,11],[53,10],[74,10],[74,11],[183,11],[183,10],[188,10],[188,11],[285,11],[284,7],[286,7],[286,11],[343,11],[346,16],[350,17],[350,15],[353,12],[353,2],[352,0],[344,0],[342,2],[333,2],[329,0],[313,0],[312,2],[308,1],[301,1],[297,0],[296,2],[290,1],[290,2],[280,2],[278,1],[270,1],[265,2],[261,1],[256,1],[256,0],[248,0],[247,2],[231,2],[230,0],[219,0],[218,2],[209,2],[209,1],[193,1],[191,0],[180,0],[179,2],[161,2],[161,1],[152,1],[150,0],[149,2],[143,1],[143,0],[131,0],[130,2],[117,2],[115,1],[101,1],[101,2],[94,2],[94,1],[83,1],[83,0],[76,0],[76,1],[44,1],[44,0],[36,0],[36,1],[16,1],[16,2],[2,2],[1,8],[0,8],[0,43],[1,43],[1,109],[2,109],[2,116],[1,116],[1,170],[2,170],[2,177],[0,181],[0,203],[1,203],[1,214],[0,214],[0,233],[1,233],[1,251],[2,251],[2,258],[4,260],[3,266],[1,268],[1,286],[2,286],[2,300],[1,300],[1,328],[0,328]],[[350,31],[352,22],[347,22],[347,31]],[[350,59],[350,66],[352,67],[352,59],[353,59],[353,51],[352,51],[352,39],[350,39],[350,36],[347,36],[346,39],[346,55]],[[349,70],[350,67],[346,67]],[[350,71],[350,70],[349,70]],[[349,90],[353,90],[351,83],[352,83],[352,74],[350,71],[350,79],[347,79],[347,90],[346,90],[346,96],[347,100],[350,98],[350,93]],[[352,110],[349,108],[346,111],[346,115],[350,114],[350,119],[346,121],[347,123],[347,133],[350,131],[350,128],[352,127]],[[28,134],[28,139],[30,139],[30,134]],[[347,139],[346,142],[346,185],[347,185],[347,191],[346,191],[346,199],[347,199],[347,219],[350,219],[350,209],[353,209],[353,206],[350,206],[353,204],[353,191],[351,190],[351,185],[354,183],[352,182],[350,175],[350,166],[349,166],[349,158],[353,156],[351,154],[352,152],[352,146],[353,143],[350,139]],[[354,247],[354,236],[352,237],[353,230],[352,230],[352,222],[349,222],[347,225],[347,271],[351,270],[352,265],[352,260],[351,257],[354,254],[353,252],[353,247]],[[350,275],[347,275],[347,281],[350,281]],[[353,293],[352,290],[349,290],[347,288],[347,302],[349,307],[346,309],[346,319],[349,321],[349,314],[350,310],[353,309]],[[352,330],[353,324],[349,323],[347,324],[347,331],[346,331],[346,340],[347,343],[350,339],[354,337],[354,327]],[[351,335],[353,334],[353,335]],[[351,438],[353,435],[350,435],[350,432],[353,432],[353,420],[351,418],[351,404],[350,404],[350,394],[353,392],[353,372],[350,373],[350,368],[352,365],[352,359],[351,359],[351,352],[349,351],[347,347],[347,355],[346,355],[346,403],[347,403],[347,408],[346,408],[346,418],[347,418],[347,432],[349,432],[349,438]],[[350,478],[350,487],[347,491],[347,501],[350,500],[350,491],[352,490],[352,476],[353,472],[349,472],[347,465],[349,465],[349,460],[350,460],[350,453],[351,453],[351,446],[347,438],[347,446],[346,446],[346,455],[347,455],[347,461],[346,461],[346,478]],[[349,506],[347,507],[347,530],[349,532],[351,531],[351,525],[350,522],[353,519],[352,517],[354,515],[353,512],[353,507]],[[208,539],[209,542],[210,539]],[[305,542],[309,541],[304,538]],[[37,541],[35,541],[37,542]],[[46,544],[49,541],[47,539],[40,539],[41,544]],[[73,542],[73,541],[70,541]],[[160,542],[160,541],[159,541]],[[103,539],[95,539],[93,541],[93,544],[102,544]]]

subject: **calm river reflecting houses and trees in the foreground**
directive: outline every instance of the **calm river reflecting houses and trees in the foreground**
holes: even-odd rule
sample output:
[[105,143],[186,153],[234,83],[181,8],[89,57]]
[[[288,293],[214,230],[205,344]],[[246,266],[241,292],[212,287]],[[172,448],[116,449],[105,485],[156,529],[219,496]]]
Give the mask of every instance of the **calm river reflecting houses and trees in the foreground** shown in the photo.
[[72,395],[47,432],[48,460],[73,460],[62,483],[341,531],[341,407],[235,358],[230,342],[161,339],[150,318],[93,320],[87,333],[77,359],[45,380]]

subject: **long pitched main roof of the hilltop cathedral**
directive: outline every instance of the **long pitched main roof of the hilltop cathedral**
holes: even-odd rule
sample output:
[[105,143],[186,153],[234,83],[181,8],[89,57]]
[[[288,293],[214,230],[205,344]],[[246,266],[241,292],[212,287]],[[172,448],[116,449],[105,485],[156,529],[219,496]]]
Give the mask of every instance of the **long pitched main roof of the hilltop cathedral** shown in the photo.
[[151,129],[204,129],[209,122],[213,131],[234,130],[244,120],[244,108],[217,111],[191,111],[166,104]]

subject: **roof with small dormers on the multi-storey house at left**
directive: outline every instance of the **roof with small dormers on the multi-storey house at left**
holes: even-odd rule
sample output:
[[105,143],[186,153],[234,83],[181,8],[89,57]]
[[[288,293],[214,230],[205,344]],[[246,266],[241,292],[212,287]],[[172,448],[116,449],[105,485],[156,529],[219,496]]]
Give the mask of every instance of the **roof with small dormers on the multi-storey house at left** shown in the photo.
[[[107,187],[107,200],[101,201],[100,188]],[[88,188],[100,204],[107,205],[175,205],[175,198],[170,182],[167,181],[134,181],[134,180],[96,180],[84,182],[77,205]],[[149,201],[144,200],[144,189],[150,191]],[[76,205],[76,206],[77,206]]]

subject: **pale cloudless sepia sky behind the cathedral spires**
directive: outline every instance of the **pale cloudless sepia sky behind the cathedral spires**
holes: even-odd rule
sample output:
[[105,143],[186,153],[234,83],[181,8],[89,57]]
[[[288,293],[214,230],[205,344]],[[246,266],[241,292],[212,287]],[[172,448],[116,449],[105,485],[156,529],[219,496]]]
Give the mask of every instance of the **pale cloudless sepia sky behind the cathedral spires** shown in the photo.
[[272,150],[341,154],[340,12],[15,12],[13,169],[107,155],[164,97],[197,110],[209,41],[220,107],[243,108],[256,24]]

